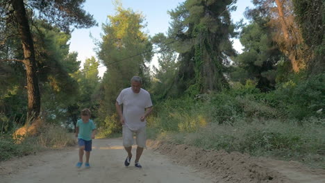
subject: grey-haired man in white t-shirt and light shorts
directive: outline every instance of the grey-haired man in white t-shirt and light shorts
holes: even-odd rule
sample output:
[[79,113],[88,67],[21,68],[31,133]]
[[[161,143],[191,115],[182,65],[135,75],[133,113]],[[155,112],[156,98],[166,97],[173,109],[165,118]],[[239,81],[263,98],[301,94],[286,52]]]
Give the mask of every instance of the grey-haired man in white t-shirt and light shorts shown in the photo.
[[[138,145],[135,157],[135,167],[142,168],[139,159],[146,147],[147,132],[146,118],[152,111],[152,102],[149,92],[142,89],[142,79],[139,76],[131,78],[131,87],[123,89],[117,97],[115,106],[123,125],[123,146],[128,153],[124,165],[130,165],[132,158],[133,133],[136,134]],[[123,105],[123,112],[122,107]]]

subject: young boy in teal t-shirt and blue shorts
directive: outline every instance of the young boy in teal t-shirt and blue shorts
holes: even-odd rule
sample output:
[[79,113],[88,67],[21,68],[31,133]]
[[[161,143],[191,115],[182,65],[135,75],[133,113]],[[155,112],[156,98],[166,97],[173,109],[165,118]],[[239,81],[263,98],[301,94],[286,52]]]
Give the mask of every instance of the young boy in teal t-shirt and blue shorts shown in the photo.
[[83,165],[83,150],[85,150],[85,168],[90,168],[89,157],[92,150],[92,139],[96,134],[96,126],[94,121],[90,119],[90,110],[84,109],[81,111],[81,119],[76,123],[76,137],[78,137],[79,145],[79,162],[76,167],[80,168]]

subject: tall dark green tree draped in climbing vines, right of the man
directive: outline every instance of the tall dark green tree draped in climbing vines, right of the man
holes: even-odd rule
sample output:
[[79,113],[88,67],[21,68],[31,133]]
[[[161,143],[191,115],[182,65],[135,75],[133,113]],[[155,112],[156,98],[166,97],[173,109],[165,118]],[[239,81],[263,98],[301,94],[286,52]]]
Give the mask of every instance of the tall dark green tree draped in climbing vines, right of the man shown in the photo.
[[190,95],[221,91],[228,87],[223,53],[234,55],[230,11],[233,1],[188,0],[169,12],[172,17],[169,37],[176,39],[178,93]]

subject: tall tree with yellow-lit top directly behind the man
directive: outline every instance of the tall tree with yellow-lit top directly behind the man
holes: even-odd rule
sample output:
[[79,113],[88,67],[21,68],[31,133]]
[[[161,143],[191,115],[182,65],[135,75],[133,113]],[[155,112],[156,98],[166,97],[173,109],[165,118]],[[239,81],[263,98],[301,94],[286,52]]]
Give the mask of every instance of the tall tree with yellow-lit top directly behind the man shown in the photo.
[[[133,76],[142,77],[144,88],[150,87],[149,67],[146,64],[151,61],[152,53],[149,50],[152,46],[148,35],[142,31],[145,28],[143,15],[117,5],[116,15],[108,18],[108,24],[103,25],[103,42],[99,44],[98,52],[99,59],[108,69],[99,93],[100,121],[115,113],[116,98],[122,89],[130,87]],[[132,55],[137,56],[126,59]]]

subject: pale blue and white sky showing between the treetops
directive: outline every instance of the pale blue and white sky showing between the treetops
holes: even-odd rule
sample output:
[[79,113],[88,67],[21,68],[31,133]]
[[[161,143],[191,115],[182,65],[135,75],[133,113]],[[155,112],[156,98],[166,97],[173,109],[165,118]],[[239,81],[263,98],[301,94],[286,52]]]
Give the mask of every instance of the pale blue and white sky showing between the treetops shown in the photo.
[[[166,33],[171,21],[168,15],[168,10],[174,10],[179,3],[184,0],[122,0],[124,8],[131,8],[135,12],[142,12],[146,17],[147,28],[144,31],[150,35],[156,33]],[[83,9],[94,16],[98,26],[92,28],[74,29],[72,38],[70,40],[70,52],[78,52],[78,60],[82,63],[85,59],[96,57],[95,49],[97,49],[96,42],[101,41],[102,24],[108,22],[108,15],[115,15],[115,0],[87,0],[83,4]],[[238,0],[235,4],[237,10],[231,13],[233,22],[244,19],[244,10],[247,6],[252,7],[251,0]],[[242,45],[239,40],[233,40],[234,49],[241,52]],[[158,66],[157,57],[155,56],[151,62],[151,66]],[[102,65],[99,68],[99,76],[103,76],[106,68]]]

